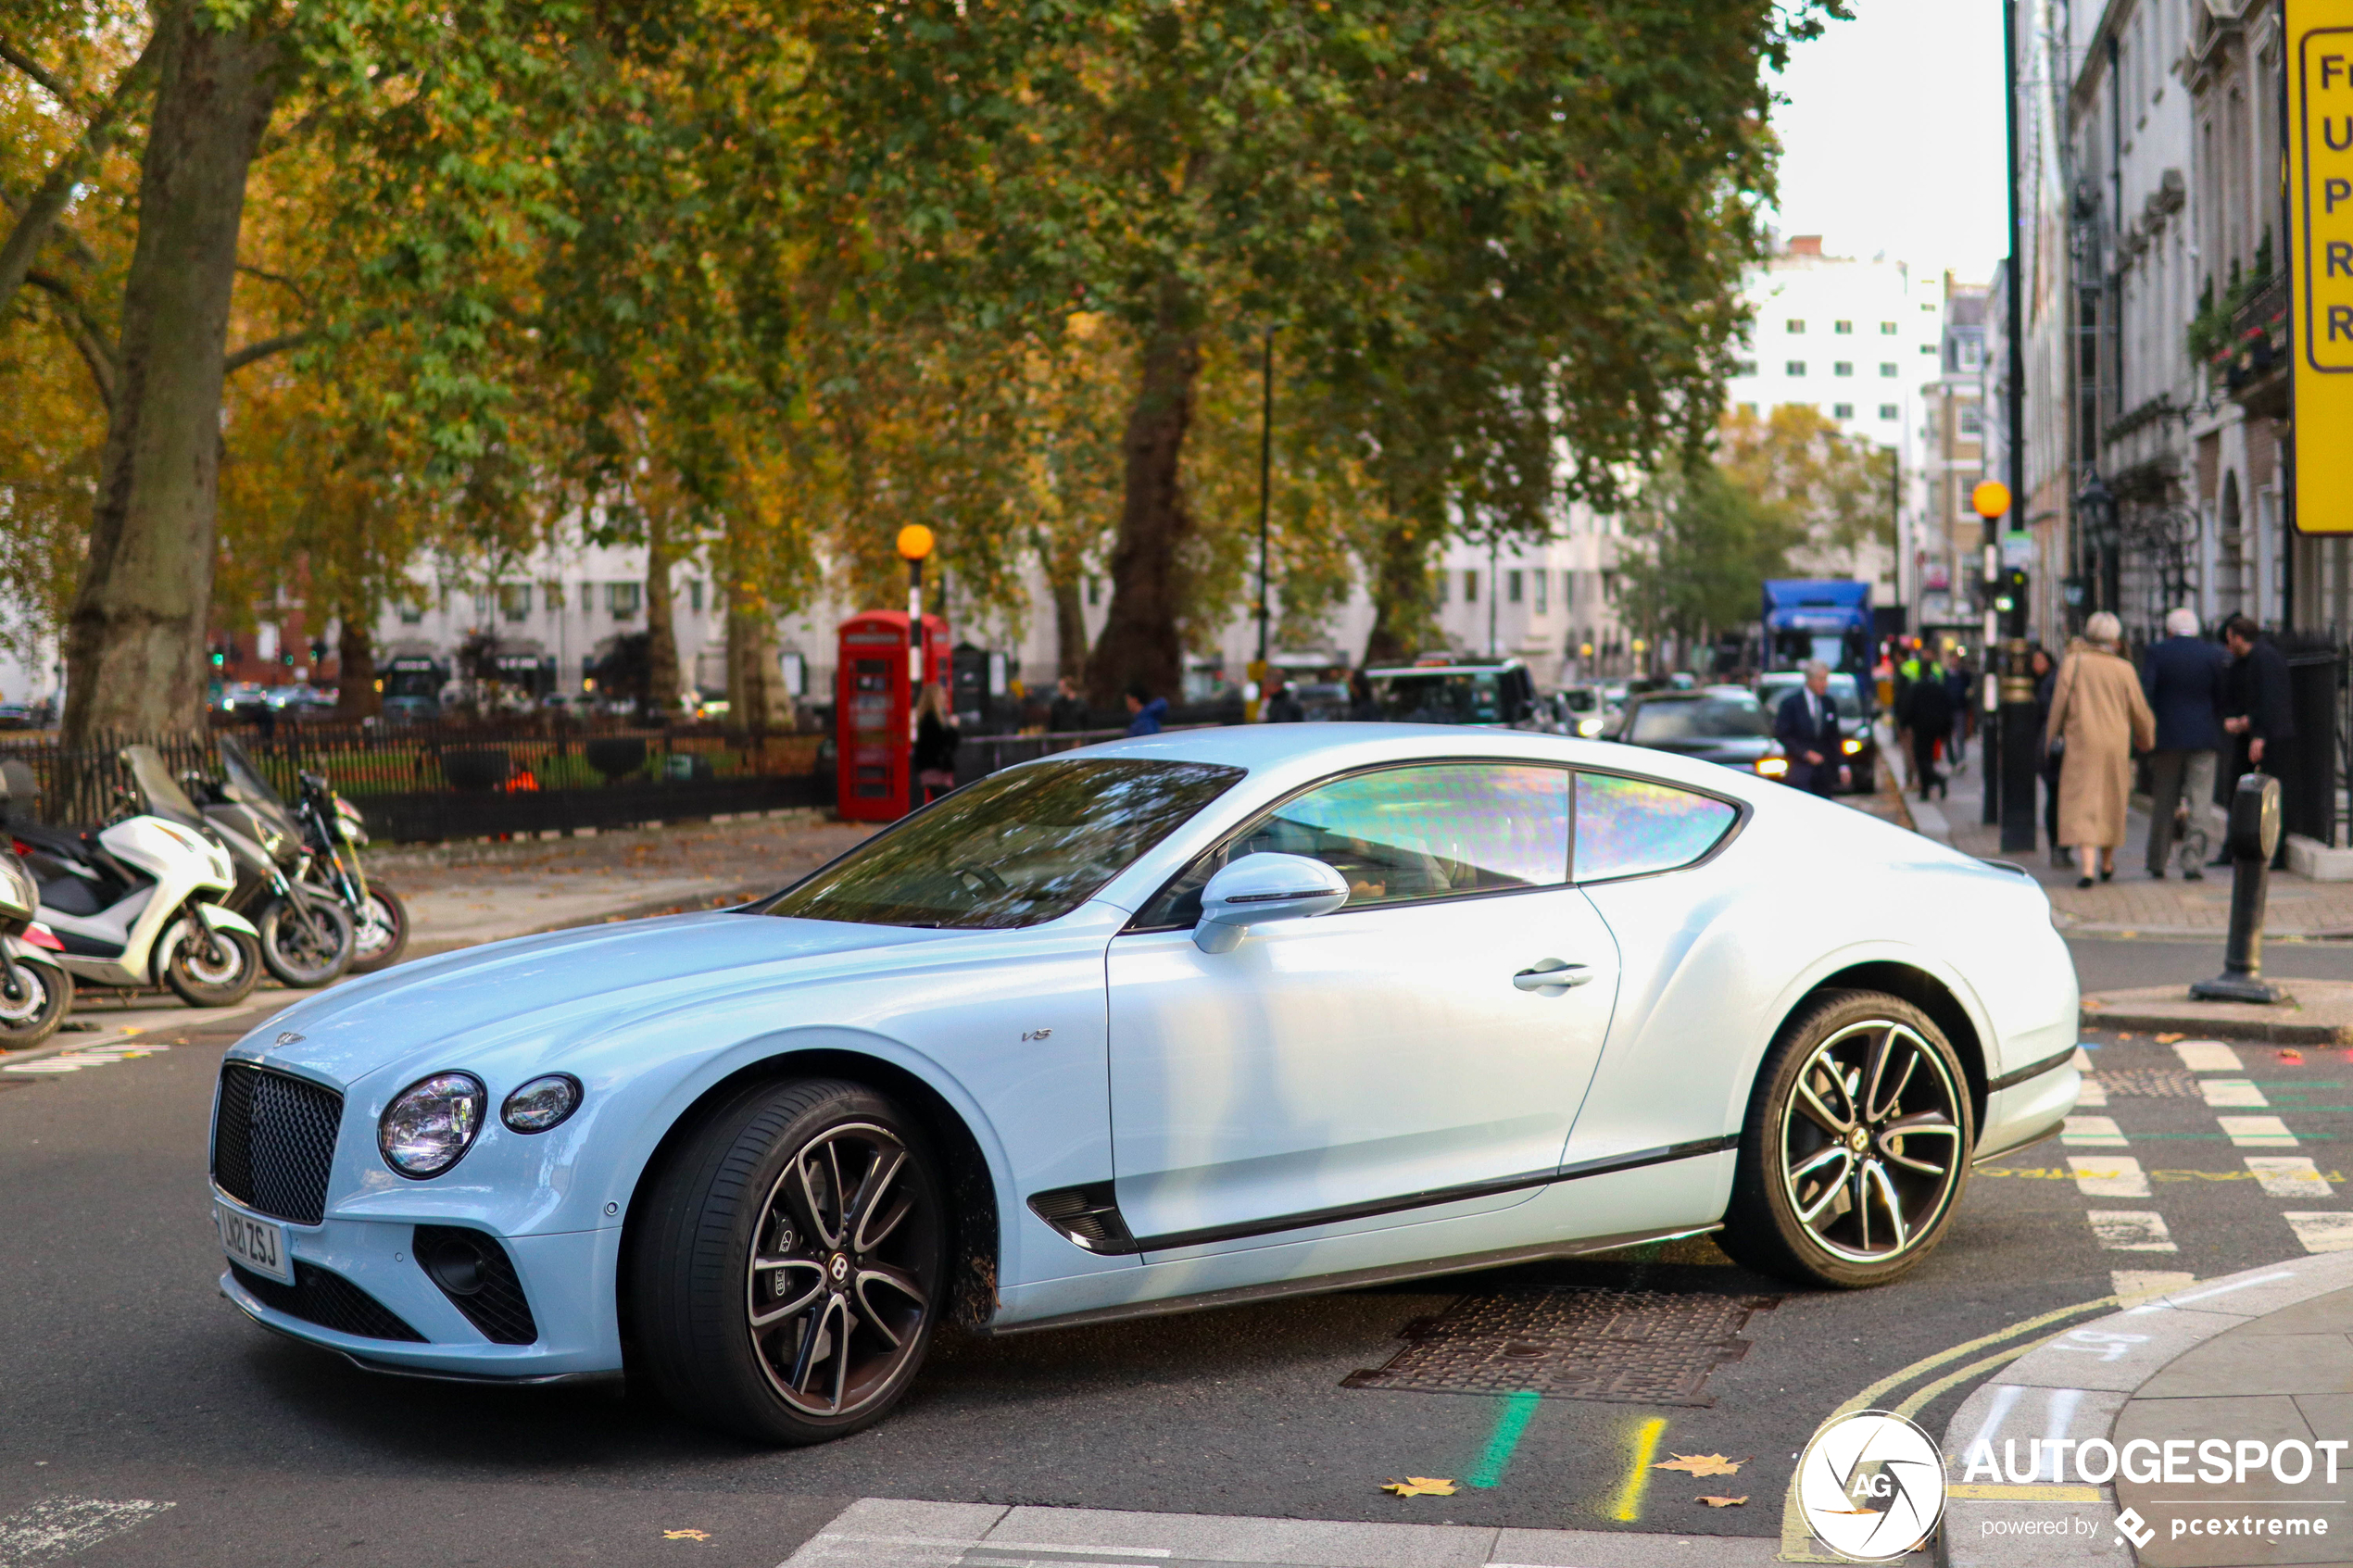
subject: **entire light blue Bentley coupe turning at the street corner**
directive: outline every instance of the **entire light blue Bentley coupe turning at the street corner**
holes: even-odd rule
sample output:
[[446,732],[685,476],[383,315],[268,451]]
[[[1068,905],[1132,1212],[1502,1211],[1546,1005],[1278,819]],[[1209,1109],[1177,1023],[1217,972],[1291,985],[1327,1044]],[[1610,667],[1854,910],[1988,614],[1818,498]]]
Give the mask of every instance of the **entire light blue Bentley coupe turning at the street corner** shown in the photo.
[[762,903],[407,964],[221,1067],[221,1291],[807,1443],[936,1324],[1720,1229],[1904,1274],[2075,1103],[2042,891],[1664,752],[1273,724],[1007,769]]

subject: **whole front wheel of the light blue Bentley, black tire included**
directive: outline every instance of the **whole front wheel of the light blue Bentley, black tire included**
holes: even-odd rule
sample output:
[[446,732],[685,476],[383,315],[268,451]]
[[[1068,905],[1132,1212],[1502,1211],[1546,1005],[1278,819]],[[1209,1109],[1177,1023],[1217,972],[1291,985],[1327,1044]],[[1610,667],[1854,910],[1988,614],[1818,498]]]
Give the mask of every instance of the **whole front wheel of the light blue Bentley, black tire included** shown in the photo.
[[922,1128],[880,1093],[833,1079],[744,1093],[631,1220],[631,1371],[680,1415],[755,1443],[871,1427],[932,1345],[941,1192]]

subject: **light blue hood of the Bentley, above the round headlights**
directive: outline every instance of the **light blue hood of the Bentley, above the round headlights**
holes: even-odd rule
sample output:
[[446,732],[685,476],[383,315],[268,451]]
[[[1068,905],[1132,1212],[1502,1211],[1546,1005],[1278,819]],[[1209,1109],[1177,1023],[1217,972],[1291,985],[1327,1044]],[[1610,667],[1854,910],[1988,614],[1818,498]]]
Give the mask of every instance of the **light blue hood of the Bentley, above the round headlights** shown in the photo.
[[[1000,933],[729,912],[584,926],[447,952],[336,985],[271,1018],[238,1041],[233,1056],[268,1058],[348,1086],[419,1046],[506,1034],[501,1025],[560,1025],[591,1037],[680,997],[706,994],[744,971],[816,978],[866,966],[861,954],[988,936]],[[289,1034],[299,1039],[287,1041]]]

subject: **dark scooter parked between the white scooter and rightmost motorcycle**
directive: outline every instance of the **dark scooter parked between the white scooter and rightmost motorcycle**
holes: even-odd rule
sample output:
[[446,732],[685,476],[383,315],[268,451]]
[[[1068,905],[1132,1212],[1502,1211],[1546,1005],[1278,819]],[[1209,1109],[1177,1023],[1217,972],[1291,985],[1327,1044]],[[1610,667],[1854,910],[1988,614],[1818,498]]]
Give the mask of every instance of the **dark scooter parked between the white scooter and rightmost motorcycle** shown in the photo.
[[344,905],[299,882],[304,827],[245,748],[216,741],[221,780],[184,773],[212,835],[228,849],[238,886],[221,903],[261,933],[261,961],[285,985],[327,985],[351,966],[353,919]]

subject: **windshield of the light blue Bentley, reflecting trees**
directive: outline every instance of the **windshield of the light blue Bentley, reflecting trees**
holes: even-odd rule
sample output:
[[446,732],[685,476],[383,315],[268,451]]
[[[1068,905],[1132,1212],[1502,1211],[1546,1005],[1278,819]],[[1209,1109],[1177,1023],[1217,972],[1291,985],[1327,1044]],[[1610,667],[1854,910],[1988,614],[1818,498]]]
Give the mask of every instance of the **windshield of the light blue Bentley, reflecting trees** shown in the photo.
[[767,914],[1007,931],[1059,919],[1233,788],[1205,762],[1042,762],[972,783],[786,889]]

